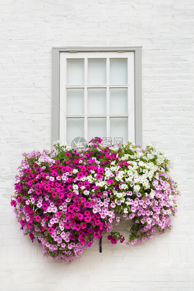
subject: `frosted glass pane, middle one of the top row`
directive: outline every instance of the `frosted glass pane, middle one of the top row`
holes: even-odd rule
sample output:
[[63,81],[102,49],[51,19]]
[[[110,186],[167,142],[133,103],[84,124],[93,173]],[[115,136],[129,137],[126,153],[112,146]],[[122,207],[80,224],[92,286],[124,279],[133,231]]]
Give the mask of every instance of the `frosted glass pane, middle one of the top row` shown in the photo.
[[106,85],[106,59],[88,59],[88,85]]

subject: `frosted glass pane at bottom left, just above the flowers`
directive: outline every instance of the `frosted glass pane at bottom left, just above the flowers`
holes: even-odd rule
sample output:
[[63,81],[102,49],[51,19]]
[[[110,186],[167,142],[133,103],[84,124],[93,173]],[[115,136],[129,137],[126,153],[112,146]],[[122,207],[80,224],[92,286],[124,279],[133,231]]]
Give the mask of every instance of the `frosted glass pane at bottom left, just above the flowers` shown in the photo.
[[84,137],[84,118],[67,118],[67,143],[77,136]]

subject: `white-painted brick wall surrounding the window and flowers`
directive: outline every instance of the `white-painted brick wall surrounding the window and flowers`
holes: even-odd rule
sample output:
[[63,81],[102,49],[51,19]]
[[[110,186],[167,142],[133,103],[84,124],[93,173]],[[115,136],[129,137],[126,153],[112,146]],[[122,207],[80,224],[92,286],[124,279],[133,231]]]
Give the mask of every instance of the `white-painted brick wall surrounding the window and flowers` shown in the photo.
[[[194,290],[193,0],[1,0],[0,14],[0,290]],[[143,144],[174,161],[182,193],[174,229],[129,247],[103,238],[70,265],[43,258],[10,196],[21,154],[51,144],[52,46],[139,45]]]

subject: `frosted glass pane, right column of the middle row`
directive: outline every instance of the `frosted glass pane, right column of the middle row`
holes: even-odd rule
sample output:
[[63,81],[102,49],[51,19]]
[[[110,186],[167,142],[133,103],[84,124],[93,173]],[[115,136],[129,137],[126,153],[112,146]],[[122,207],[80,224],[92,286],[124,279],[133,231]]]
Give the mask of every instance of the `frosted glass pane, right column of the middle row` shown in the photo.
[[110,89],[110,113],[122,114],[127,113],[127,88]]

